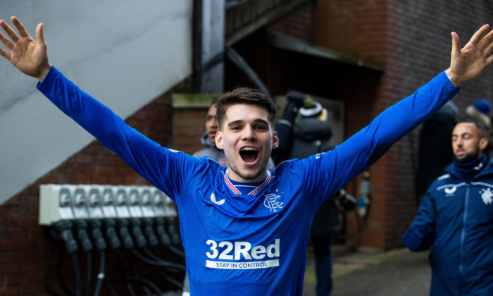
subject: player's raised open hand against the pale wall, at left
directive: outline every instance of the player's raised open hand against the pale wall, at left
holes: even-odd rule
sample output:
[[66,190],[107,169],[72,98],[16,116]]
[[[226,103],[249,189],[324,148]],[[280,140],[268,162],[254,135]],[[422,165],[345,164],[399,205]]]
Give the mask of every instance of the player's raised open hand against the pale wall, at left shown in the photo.
[[10,50],[0,49],[0,55],[12,63],[20,72],[43,81],[48,74],[51,65],[46,54],[46,43],[43,36],[43,24],[36,27],[36,40],[27,33],[25,27],[18,18],[11,17],[11,22],[17,28],[20,37],[7,25],[4,20],[0,20],[0,27],[4,29],[8,39],[0,32],[0,41]]

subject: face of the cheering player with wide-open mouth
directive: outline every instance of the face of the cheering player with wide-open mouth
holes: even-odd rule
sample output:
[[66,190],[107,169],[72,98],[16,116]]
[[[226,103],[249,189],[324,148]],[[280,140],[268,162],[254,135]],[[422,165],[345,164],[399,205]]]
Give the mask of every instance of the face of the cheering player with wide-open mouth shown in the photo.
[[268,121],[268,111],[254,104],[232,104],[216,134],[216,146],[223,149],[229,177],[239,182],[266,178],[270,152],[277,148],[277,132]]

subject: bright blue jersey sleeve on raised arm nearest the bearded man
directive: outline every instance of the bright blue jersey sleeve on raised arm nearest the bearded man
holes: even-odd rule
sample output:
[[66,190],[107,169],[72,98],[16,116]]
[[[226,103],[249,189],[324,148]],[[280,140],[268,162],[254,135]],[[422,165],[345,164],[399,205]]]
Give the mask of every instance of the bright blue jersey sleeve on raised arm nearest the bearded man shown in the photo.
[[447,103],[459,90],[442,72],[416,92],[380,113],[330,152],[297,161],[306,186],[316,204],[321,204],[339,188],[365,171],[401,137]]

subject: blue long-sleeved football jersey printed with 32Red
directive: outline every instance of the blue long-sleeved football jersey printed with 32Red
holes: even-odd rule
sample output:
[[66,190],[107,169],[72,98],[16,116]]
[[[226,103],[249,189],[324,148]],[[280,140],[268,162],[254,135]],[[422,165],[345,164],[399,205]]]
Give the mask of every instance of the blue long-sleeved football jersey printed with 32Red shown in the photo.
[[51,68],[37,85],[177,204],[192,295],[302,295],[317,207],[457,92],[444,72],[330,152],[285,161],[255,187],[227,167],[161,147]]

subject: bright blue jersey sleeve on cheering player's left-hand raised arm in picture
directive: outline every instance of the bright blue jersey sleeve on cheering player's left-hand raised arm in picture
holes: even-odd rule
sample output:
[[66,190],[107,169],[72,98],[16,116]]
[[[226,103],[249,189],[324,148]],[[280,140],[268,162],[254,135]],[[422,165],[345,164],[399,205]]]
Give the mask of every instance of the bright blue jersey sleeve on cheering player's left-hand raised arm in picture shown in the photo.
[[[161,147],[131,128],[108,107],[96,101],[52,67],[37,89],[58,109],[91,133],[104,146],[174,199],[185,176],[180,167],[189,166],[192,156]],[[193,159],[193,160],[192,160]],[[172,176],[173,178],[170,178]]]

